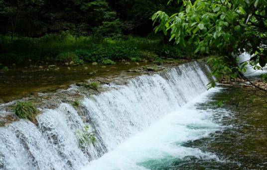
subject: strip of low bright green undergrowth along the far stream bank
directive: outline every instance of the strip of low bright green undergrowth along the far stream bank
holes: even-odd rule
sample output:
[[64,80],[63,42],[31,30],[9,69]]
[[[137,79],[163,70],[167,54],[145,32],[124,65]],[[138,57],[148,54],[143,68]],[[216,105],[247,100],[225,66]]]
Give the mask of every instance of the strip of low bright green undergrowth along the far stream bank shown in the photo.
[[[138,61],[163,58],[182,58],[189,52],[176,46],[163,44],[160,38],[148,39],[132,36],[101,38],[93,36],[75,37],[68,32],[49,34],[40,38],[14,38],[2,36],[0,63],[58,62],[74,61],[113,64],[122,59]],[[189,51],[189,49],[187,49]],[[109,60],[108,60],[109,59]],[[2,66],[3,67],[3,66]],[[0,67],[1,69],[1,67]]]

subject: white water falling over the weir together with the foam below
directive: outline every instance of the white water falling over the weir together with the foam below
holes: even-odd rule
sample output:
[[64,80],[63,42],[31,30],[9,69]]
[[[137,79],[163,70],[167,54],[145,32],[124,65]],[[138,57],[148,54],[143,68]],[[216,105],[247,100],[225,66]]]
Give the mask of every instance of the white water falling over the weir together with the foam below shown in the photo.
[[[136,169],[132,164],[141,162],[139,159],[144,157],[139,157],[139,153],[134,154],[134,151],[143,149],[143,152],[148,152],[144,148],[155,149],[152,155],[158,154],[159,157],[161,152],[171,152],[171,156],[179,153],[181,157],[190,153],[211,156],[183,147],[171,151],[173,148],[169,145],[170,142],[205,136],[218,128],[202,120],[207,115],[182,107],[207,90],[207,72],[203,63],[187,63],[159,74],[136,77],[128,85],[111,85],[111,90],[99,95],[85,96],[81,113],[70,104],[61,103],[56,109],[43,109],[37,116],[37,125],[19,120],[1,127],[0,169],[89,170],[90,166],[95,166],[94,170]],[[208,124],[210,128],[203,131],[187,127],[195,124]],[[81,148],[75,135],[86,125],[94,133],[96,141]],[[181,134],[177,136],[175,133]],[[167,143],[166,136],[169,138]],[[137,145],[138,141],[143,145]],[[167,146],[163,146],[165,144]],[[130,151],[126,149],[129,146],[133,146]],[[131,154],[128,160],[127,153]],[[112,159],[105,161],[111,156]],[[110,164],[116,164],[112,162],[116,158],[130,167],[117,164],[109,168]],[[101,160],[108,168],[99,167]],[[142,166],[137,167],[141,169]]]

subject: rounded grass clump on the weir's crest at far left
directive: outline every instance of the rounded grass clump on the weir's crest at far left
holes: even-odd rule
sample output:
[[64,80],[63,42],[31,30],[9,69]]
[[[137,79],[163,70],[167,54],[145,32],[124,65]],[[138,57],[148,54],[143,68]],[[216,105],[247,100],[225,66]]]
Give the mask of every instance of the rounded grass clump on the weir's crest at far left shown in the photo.
[[30,101],[17,101],[13,107],[15,114],[21,119],[28,119],[31,122],[35,122],[35,116],[38,114],[38,110]]

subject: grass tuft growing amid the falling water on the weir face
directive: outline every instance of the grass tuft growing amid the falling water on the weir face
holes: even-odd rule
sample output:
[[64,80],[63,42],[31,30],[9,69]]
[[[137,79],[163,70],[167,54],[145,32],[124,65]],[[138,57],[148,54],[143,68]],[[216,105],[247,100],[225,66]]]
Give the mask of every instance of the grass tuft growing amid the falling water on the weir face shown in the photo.
[[86,149],[90,144],[96,143],[96,138],[94,134],[90,131],[88,125],[84,126],[82,131],[77,130],[75,132],[75,136],[79,142],[79,147],[82,150]]

